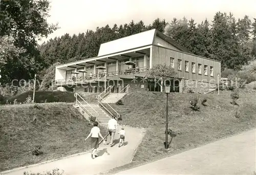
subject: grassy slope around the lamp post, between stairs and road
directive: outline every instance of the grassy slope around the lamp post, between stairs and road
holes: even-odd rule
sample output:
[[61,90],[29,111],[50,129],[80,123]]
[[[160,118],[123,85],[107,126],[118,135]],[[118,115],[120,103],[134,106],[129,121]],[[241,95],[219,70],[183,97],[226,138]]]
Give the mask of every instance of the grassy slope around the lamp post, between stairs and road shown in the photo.
[[[241,89],[239,106],[230,104],[230,91],[215,94],[181,94],[169,95],[169,128],[180,131],[170,145],[169,152],[164,149],[165,141],[165,104],[166,96],[160,92],[133,92],[123,98],[124,105],[113,105],[122,115],[121,124],[147,128],[135,154],[133,163],[119,167],[110,173],[140,163],[174,155],[208,142],[238,134],[255,127],[256,95],[255,90]],[[207,98],[207,106],[199,101],[200,111],[192,112],[190,97]],[[234,113],[240,111],[240,118]],[[168,138],[170,140],[170,137]]]

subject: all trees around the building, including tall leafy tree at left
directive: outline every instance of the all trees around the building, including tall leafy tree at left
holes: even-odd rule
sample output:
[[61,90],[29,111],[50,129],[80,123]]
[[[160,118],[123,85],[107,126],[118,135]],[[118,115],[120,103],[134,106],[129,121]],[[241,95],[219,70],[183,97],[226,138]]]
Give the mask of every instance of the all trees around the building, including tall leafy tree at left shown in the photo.
[[48,0],[9,0],[0,4],[0,69],[2,85],[17,79],[39,80],[47,87],[54,79],[55,66],[97,56],[101,43],[157,29],[187,47],[195,55],[220,60],[222,69],[237,69],[256,58],[256,18],[217,12],[212,21],[190,19],[155,19],[146,25],[130,21],[113,27],[105,24],[95,31],[65,34],[38,45],[36,39],[58,29],[49,24]]

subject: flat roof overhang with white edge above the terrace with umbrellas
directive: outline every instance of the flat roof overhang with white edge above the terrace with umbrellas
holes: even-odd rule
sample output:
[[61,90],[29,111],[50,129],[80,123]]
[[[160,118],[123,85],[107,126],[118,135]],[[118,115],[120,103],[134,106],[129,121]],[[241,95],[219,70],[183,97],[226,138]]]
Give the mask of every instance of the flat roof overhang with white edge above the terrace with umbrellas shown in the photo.
[[110,63],[113,61],[124,61],[129,58],[138,58],[143,55],[150,55],[150,46],[145,46],[137,49],[131,49],[130,51],[120,52],[107,56],[94,57],[86,60],[76,61],[68,64],[56,66],[57,69],[71,70],[74,68],[83,68],[84,66],[102,65],[104,63]]

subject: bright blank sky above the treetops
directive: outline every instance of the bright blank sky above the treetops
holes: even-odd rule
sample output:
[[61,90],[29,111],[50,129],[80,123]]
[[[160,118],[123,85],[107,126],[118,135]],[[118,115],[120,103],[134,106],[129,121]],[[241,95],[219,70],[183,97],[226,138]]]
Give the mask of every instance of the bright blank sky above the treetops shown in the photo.
[[[256,18],[256,0],[51,0],[51,17],[48,22],[56,23],[60,29],[51,34],[46,41],[65,33],[70,35],[94,30],[96,27],[110,27],[116,23],[129,23],[143,20],[150,24],[159,17],[167,22],[174,17],[209,21],[216,12],[232,12],[238,18],[248,15]],[[41,42],[39,42],[41,43]]]

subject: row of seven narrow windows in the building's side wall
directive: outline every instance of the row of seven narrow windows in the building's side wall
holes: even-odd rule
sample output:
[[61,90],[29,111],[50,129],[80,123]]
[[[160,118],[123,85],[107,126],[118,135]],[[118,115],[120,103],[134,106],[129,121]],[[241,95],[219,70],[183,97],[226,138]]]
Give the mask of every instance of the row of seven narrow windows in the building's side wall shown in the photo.
[[[182,70],[182,60],[178,59],[178,70]],[[174,58],[170,58],[170,65],[174,68]],[[185,71],[189,72],[188,61],[185,61]],[[191,72],[196,73],[196,63],[191,62]],[[198,64],[198,74],[202,74],[202,64]],[[204,75],[208,76],[208,66],[204,65]],[[210,66],[210,76],[214,77],[214,67]]]

